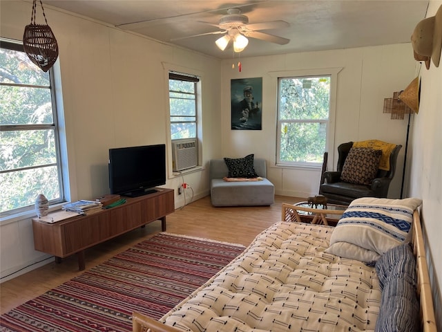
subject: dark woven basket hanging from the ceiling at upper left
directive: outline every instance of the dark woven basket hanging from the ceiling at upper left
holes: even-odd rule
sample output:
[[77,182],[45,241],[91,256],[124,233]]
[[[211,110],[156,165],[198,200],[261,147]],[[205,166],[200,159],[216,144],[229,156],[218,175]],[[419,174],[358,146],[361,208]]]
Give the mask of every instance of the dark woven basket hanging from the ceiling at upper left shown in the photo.
[[43,3],[41,10],[46,24],[35,23],[35,12],[37,10],[37,0],[32,3],[32,14],[30,24],[25,27],[23,33],[23,48],[34,64],[39,66],[46,73],[57,61],[58,44],[52,29],[48,26],[48,20],[44,13]]

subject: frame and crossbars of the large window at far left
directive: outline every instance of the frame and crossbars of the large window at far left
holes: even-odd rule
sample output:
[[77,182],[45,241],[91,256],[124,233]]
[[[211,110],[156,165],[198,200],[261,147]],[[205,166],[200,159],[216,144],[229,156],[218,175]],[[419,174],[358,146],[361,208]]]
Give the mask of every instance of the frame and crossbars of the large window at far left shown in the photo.
[[[10,50],[16,50],[24,53],[23,44],[19,41],[12,39],[0,38],[1,48],[6,48]],[[58,62],[57,62],[58,63]],[[58,66],[58,64],[57,64]],[[38,67],[37,67],[38,68]],[[55,205],[57,203],[63,203],[66,201],[66,178],[63,169],[63,154],[61,153],[61,145],[64,145],[64,141],[60,136],[59,131],[59,110],[57,106],[57,80],[56,74],[53,70],[54,67],[48,70],[49,75],[49,86],[38,86],[29,84],[15,84],[15,83],[5,83],[1,82],[1,86],[29,86],[33,89],[49,89],[50,90],[50,100],[52,104],[52,122],[42,123],[42,124],[1,124],[0,131],[29,131],[29,130],[51,130],[54,133],[54,144],[55,144],[55,163],[46,163],[42,165],[32,166],[32,167],[21,167],[19,169],[0,171],[3,174],[10,172],[17,172],[17,170],[23,169],[39,169],[48,166],[57,166],[57,177],[58,177],[58,187],[59,187],[59,197],[57,199],[51,199],[49,205]],[[41,70],[41,69],[39,69]],[[10,219],[14,216],[19,216],[21,214],[26,214],[26,212],[34,212],[35,205],[31,203],[29,205],[21,206],[12,210],[7,210],[0,212],[0,220]]]

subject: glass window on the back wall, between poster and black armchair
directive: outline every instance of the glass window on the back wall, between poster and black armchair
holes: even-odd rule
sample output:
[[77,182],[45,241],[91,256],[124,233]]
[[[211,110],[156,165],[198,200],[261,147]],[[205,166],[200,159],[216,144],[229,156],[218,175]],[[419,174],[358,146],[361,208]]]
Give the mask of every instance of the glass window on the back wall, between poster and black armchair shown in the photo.
[[327,151],[331,75],[278,79],[277,163],[317,166]]

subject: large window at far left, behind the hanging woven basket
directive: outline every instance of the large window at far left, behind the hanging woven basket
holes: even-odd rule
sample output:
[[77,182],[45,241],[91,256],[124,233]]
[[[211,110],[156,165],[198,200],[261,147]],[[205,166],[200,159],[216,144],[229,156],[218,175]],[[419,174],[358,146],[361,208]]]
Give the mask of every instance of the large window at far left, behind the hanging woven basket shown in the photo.
[[32,64],[23,45],[0,41],[2,214],[33,208],[40,193],[50,203],[63,199],[52,82],[52,69]]

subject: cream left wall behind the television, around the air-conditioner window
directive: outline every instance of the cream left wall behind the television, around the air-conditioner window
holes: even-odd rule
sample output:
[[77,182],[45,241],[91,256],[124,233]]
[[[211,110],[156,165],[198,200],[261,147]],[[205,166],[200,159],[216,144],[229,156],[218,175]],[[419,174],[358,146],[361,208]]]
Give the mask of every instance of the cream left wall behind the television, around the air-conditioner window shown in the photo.
[[[1,1],[0,6],[1,37],[21,40],[32,3]],[[167,142],[169,82],[165,68],[170,66],[202,75],[203,165],[220,154],[220,60],[50,6],[45,6],[45,12],[59,45],[71,200],[109,192],[109,148]],[[168,153],[170,160],[171,151]],[[165,185],[175,189],[175,207],[184,204],[184,195],[177,195],[182,181],[181,177],[168,178]],[[184,181],[193,188],[195,199],[209,193],[206,169],[184,176]],[[187,202],[189,199],[190,192]],[[29,213],[1,223],[1,277],[48,257],[34,250],[33,216],[35,213]]]

